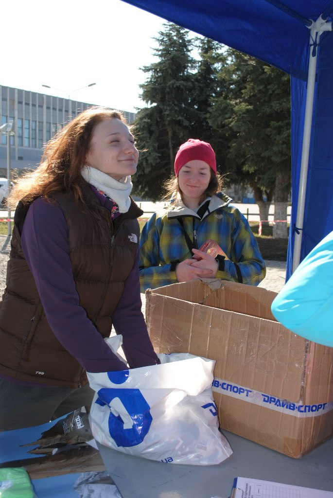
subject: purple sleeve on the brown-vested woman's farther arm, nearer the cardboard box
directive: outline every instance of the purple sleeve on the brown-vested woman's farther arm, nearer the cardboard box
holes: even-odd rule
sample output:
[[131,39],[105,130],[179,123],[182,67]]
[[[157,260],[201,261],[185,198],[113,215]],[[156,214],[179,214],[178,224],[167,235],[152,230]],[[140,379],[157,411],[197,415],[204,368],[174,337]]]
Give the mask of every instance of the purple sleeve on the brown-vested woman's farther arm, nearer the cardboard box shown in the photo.
[[130,368],[160,363],[150,342],[141,307],[138,245],[133,269],[125,280],[124,291],[112,315],[114,329],[122,335],[122,349]]

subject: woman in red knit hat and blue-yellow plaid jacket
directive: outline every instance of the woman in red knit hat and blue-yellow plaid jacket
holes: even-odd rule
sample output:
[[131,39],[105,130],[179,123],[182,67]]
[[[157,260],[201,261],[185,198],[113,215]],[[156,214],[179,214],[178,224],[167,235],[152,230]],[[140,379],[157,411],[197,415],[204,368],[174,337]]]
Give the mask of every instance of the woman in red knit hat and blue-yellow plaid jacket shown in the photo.
[[258,285],[265,263],[246,218],[222,193],[212,146],[183,143],[165,189],[167,210],[154,213],[140,237],[141,292],[199,277]]

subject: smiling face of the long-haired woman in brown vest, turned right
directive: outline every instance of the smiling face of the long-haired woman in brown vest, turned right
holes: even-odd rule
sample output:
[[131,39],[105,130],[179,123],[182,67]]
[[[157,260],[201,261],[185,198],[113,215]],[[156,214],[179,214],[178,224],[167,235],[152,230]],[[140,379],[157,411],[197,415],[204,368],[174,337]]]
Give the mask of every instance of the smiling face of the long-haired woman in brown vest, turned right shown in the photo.
[[86,164],[120,180],[136,172],[138,159],[133,135],[125,123],[112,118],[96,125]]

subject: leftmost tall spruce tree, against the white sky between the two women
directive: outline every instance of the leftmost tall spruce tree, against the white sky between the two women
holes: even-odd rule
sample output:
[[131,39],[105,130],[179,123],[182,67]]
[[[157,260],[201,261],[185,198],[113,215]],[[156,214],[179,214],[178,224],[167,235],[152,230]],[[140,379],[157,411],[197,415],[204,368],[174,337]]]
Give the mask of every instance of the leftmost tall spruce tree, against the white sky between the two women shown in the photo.
[[142,68],[148,78],[140,85],[140,97],[149,107],[139,110],[134,123],[142,152],[133,191],[152,201],[160,200],[162,183],[173,173],[179,145],[189,137],[194,85],[189,32],[169,22],[163,27],[154,38],[158,42],[154,55],[159,60]]

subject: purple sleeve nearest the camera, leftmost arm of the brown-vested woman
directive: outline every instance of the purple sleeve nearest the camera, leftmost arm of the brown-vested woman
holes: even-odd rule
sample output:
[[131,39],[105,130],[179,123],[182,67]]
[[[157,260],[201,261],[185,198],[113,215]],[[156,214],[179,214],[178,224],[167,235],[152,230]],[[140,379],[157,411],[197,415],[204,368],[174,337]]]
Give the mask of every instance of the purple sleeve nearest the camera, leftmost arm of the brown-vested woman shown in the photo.
[[79,305],[67,224],[59,205],[36,199],[24,221],[21,243],[47,321],[60,343],[88,372],[127,369]]

